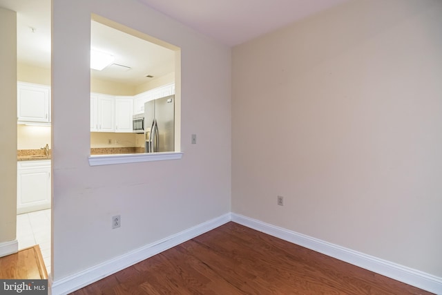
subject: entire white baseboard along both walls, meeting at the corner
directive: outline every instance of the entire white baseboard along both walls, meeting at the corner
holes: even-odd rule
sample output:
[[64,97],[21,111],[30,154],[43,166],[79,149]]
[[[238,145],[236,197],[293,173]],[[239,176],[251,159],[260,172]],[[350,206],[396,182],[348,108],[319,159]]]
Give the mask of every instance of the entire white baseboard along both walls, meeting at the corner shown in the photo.
[[[207,231],[211,231],[216,227],[224,225],[224,223],[227,223],[230,220],[239,223],[240,225],[250,227],[251,229],[262,231],[265,234],[275,236],[276,238],[287,240],[288,242],[292,242],[307,249],[343,260],[347,263],[351,263],[352,265],[368,269],[369,271],[376,272],[377,274],[393,278],[394,280],[399,280],[408,285],[427,290],[428,292],[432,292],[434,294],[442,295],[442,278],[420,272],[416,269],[411,269],[410,267],[398,265],[387,260],[376,258],[374,256],[369,256],[352,249],[334,245],[317,238],[305,236],[303,234],[296,233],[295,231],[289,231],[287,229],[283,229],[282,227],[276,227],[260,220],[241,216],[236,213],[224,214],[223,216],[209,220],[200,225],[196,225],[195,227],[191,227],[190,229],[186,229],[162,240],[157,240],[156,242],[146,245],[140,249],[131,251],[128,254],[118,256],[117,258],[107,260],[104,263],[85,269],[84,271],[74,274],[73,276],[68,276],[55,282],[52,281],[52,278],[49,278],[49,289],[52,291],[51,294],[53,295],[69,294],[70,292],[74,292],[75,290],[94,283],[106,276],[115,274],[115,272],[119,272],[120,270],[134,265],[135,263],[139,263],[146,258],[159,254],[162,251],[170,249],[171,247],[175,247],[186,240],[191,240],[192,238],[195,238],[195,236],[199,236]],[[0,254],[1,246],[2,244],[0,244]],[[18,247],[17,244],[16,247]]]

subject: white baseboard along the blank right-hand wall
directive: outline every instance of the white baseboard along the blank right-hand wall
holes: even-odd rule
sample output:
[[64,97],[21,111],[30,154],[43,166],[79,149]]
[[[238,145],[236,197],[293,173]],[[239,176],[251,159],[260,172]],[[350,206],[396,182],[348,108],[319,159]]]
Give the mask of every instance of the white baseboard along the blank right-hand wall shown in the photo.
[[394,280],[399,280],[408,285],[427,290],[428,292],[442,294],[442,278],[432,276],[431,274],[426,274],[410,267],[398,265],[387,260],[369,256],[367,254],[334,245],[317,238],[311,238],[310,236],[305,236],[303,234],[296,233],[295,231],[289,231],[287,229],[283,229],[282,227],[276,227],[260,220],[241,216],[236,213],[231,213],[231,221],[246,227],[250,227],[251,229],[256,229],[257,231],[262,231],[263,233],[269,234],[276,238],[287,240],[288,242],[292,242],[296,245],[320,252],[327,256],[343,260],[346,263],[351,263],[352,265],[362,267],[363,269],[368,269],[369,271],[376,272],[377,274],[393,278]]

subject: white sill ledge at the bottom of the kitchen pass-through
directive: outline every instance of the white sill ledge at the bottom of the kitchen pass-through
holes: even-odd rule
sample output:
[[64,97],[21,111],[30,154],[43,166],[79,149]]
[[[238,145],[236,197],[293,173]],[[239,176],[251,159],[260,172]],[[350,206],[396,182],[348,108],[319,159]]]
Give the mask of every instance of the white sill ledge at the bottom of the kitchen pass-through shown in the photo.
[[113,164],[126,164],[137,162],[152,162],[163,160],[180,160],[182,152],[166,153],[124,153],[117,155],[90,155],[89,166],[102,166]]

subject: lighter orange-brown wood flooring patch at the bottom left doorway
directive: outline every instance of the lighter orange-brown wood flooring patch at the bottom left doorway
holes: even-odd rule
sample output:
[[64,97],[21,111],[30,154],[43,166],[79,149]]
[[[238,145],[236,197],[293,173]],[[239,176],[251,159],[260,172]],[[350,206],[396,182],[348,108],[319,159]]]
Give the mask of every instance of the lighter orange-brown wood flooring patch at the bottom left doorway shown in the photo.
[[0,258],[0,278],[47,279],[39,245]]

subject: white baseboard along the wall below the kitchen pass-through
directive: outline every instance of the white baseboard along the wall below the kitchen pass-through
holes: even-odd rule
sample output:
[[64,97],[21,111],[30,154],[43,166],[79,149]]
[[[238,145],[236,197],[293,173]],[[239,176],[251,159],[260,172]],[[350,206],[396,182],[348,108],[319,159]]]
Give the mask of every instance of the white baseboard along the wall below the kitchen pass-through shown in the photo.
[[74,274],[73,276],[68,276],[62,278],[61,280],[52,281],[52,276],[49,278],[49,289],[52,291],[52,295],[69,294],[77,289],[81,289],[86,285],[96,282],[106,276],[115,274],[126,267],[130,267],[135,263],[139,263],[149,257],[161,253],[167,249],[175,247],[176,245],[185,242],[186,240],[191,240],[200,234],[204,234],[207,231],[211,231],[216,227],[220,227],[225,223],[230,221],[230,213],[224,214],[218,218],[201,223],[190,229],[180,231],[177,234],[163,238],[162,240],[157,240],[151,244],[148,244],[140,249],[128,252],[122,256],[118,256],[111,260],[107,260],[104,263],[95,265],[85,269],[82,272]]

